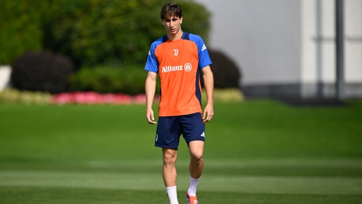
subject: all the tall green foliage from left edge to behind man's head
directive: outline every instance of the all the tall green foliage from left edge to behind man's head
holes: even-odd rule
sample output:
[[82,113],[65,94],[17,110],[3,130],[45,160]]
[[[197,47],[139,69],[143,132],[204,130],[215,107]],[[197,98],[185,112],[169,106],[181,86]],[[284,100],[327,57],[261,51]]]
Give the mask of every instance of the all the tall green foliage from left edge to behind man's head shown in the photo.
[[[165,0],[4,1],[0,64],[29,50],[69,55],[77,66],[145,64],[150,44],[165,35]],[[207,40],[210,14],[194,1],[178,2],[185,31]],[[197,19],[197,21],[193,21]],[[6,39],[6,40],[5,40]]]

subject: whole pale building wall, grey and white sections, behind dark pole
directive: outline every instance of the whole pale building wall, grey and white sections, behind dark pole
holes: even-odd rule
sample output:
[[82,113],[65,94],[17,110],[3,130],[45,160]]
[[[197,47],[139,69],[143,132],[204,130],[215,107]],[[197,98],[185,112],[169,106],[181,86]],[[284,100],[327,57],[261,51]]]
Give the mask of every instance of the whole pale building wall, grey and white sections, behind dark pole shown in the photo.
[[[208,46],[241,67],[243,90],[316,97],[322,87],[334,96],[334,0],[195,1],[213,15]],[[346,97],[362,97],[362,0],[344,0],[344,29]]]

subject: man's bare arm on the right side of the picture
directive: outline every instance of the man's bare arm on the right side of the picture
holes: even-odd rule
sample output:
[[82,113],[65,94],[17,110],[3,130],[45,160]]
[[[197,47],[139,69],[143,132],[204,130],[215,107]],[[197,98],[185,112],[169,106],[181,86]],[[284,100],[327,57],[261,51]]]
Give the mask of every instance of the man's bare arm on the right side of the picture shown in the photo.
[[207,105],[204,109],[204,113],[202,114],[202,118],[204,119],[204,122],[208,122],[214,116],[214,100],[213,100],[214,77],[210,66],[205,66],[204,68],[201,69],[201,71],[202,71],[202,77],[204,78],[204,87],[207,97]]

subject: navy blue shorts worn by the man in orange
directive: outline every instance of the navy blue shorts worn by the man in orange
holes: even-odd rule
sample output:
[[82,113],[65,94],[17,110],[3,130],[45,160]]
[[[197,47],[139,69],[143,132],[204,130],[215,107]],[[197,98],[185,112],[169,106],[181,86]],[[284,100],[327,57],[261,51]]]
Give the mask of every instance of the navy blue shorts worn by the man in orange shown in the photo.
[[187,145],[195,140],[205,141],[205,124],[202,121],[202,114],[160,116],[158,118],[155,146],[178,149],[181,134]]

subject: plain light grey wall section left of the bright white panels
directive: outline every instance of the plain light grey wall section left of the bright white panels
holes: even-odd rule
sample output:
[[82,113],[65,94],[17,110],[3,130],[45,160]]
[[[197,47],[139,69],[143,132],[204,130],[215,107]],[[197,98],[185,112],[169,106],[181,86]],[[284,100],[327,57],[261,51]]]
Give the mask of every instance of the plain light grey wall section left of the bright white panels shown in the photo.
[[299,0],[197,1],[212,14],[210,47],[237,62],[243,85],[300,80]]

